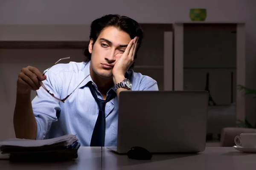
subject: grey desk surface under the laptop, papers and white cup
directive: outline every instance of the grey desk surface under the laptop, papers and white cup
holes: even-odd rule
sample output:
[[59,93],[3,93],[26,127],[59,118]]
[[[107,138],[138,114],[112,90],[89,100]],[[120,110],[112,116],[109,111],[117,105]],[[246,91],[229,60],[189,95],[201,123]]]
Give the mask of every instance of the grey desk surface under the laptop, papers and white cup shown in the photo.
[[[0,158],[3,155],[0,155]],[[25,163],[0,160],[0,170],[256,170],[256,153],[242,153],[233,147],[206,147],[191,155],[153,155],[151,160],[128,159],[101,147],[80,147],[75,161]]]

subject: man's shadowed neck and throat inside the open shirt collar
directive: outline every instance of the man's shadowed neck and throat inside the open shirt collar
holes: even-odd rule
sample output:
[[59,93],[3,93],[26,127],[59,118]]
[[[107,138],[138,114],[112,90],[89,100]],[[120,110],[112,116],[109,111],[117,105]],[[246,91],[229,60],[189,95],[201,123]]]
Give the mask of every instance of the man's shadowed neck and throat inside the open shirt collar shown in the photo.
[[93,69],[90,67],[90,76],[93,79],[93,82],[97,85],[99,92],[102,96],[106,96],[108,90],[113,86],[113,78],[102,78],[97,75]]

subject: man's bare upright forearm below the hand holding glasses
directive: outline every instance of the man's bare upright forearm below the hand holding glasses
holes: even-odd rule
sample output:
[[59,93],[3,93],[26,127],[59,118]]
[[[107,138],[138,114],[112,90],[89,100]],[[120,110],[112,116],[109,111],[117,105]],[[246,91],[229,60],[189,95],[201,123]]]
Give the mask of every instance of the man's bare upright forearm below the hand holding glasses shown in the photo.
[[36,138],[37,123],[32,110],[30,92],[27,94],[20,94],[17,92],[13,124],[16,138]]

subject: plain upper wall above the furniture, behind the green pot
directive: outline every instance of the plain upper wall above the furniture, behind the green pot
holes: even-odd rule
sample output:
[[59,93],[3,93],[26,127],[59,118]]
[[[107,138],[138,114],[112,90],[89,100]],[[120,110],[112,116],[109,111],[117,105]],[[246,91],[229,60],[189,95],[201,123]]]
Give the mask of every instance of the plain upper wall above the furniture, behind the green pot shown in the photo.
[[[0,24],[90,24],[103,14],[140,23],[189,20],[189,8],[207,8],[207,20],[244,20],[253,0],[1,0]],[[247,11],[247,12],[245,12]]]

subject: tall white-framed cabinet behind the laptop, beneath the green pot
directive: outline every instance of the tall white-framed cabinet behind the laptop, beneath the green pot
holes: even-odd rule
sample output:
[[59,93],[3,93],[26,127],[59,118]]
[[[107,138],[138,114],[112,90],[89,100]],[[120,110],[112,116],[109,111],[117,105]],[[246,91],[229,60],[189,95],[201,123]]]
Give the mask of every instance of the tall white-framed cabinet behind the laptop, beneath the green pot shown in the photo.
[[235,119],[244,121],[245,99],[237,85],[245,85],[245,24],[179,22],[173,28],[173,90],[205,90],[208,74],[216,103],[209,115],[235,108]]

